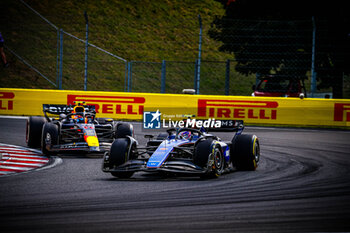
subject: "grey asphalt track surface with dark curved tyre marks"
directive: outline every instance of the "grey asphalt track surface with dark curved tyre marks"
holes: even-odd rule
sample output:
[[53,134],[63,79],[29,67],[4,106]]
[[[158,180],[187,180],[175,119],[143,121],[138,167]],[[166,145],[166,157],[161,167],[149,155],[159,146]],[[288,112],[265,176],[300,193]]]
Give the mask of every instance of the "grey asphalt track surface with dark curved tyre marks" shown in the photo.
[[[141,125],[134,126],[144,143]],[[25,146],[25,120],[0,118],[0,129],[0,142]],[[100,156],[81,155],[0,177],[0,230],[350,231],[350,131],[247,127],[245,133],[260,138],[259,168],[218,179],[137,173],[120,180],[101,171]]]

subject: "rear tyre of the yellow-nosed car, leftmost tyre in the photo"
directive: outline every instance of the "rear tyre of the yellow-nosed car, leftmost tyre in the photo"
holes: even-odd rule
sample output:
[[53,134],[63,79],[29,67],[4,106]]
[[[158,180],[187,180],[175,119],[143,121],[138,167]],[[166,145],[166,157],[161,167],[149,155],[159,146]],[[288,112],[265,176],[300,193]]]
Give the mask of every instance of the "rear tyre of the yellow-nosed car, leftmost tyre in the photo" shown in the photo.
[[31,116],[28,118],[26,127],[26,142],[28,147],[40,148],[41,134],[45,122],[45,117]]

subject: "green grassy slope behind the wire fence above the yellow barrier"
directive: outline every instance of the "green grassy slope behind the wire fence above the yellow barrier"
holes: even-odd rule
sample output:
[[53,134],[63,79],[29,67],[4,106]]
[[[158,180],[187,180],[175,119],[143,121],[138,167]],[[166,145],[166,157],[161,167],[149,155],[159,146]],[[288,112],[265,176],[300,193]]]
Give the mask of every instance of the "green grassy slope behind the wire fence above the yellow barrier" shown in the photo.
[[[215,16],[224,13],[222,5],[215,0],[26,2],[58,28],[82,39],[85,38],[83,13],[86,10],[89,15],[89,42],[128,61],[177,61],[167,66],[167,93],[181,93],[183,88],[193,88],[200,14],[203,21],[202,59],[223,61],[221,65],[202,65],[201,93],[224,94],[224,61],[234,57],[219,52],[220,42],[207,34]],[[56,83],[56,29],[20,1],[2,1],[0,6],[7,12],[0,17],[5,44]],[[6,53],[11,65],[7,69],[0,68],[0,87],[56,88],[9,51]],[[84,43],[67,34],[63,35],[62,71],[63,89],[83,89]],[[239,75],[232,68],[231,71],[230,94],[250,95],[253,78]],[[160,92],[160,75],[159,65],[145,63],[135,66],[132,90]],[[124,91],[125,63],[89,47],[87,84],[88,90]]]

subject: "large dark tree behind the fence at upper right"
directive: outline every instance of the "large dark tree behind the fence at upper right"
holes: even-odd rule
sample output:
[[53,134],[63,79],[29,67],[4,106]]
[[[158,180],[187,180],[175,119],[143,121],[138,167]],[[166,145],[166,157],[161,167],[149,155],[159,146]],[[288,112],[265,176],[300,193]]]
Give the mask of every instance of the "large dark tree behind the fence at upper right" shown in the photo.
[[[275,73],[306,79],[312,50],[312,32],[306,28],[311,28],[313,18],[318,88],[332,88],[333,98],[343,97],[343,77],[350,73],[350,16],[346,1],[218,2],[225,14],[213,21],[209,34],[223,43],[220,51],[235,55],[236,70],[246,75]],[[243,29],[234,23],[237,20],[245,20]],[[269,36],[262,35],[262,31],[268,31]],[[296,65],[297,71],[293,69]]]

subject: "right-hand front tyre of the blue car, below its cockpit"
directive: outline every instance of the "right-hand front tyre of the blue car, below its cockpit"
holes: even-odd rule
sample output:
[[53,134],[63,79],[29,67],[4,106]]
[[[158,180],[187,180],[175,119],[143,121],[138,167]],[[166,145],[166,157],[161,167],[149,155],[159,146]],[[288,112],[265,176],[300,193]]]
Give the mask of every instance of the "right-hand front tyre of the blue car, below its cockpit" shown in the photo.
[[[209,156],[210,159],[209,159]],[[194,164],[206,168],[209,166],[209,161],[212,161],[211,169],[201,178],[217,178],[219,177],[225,167],[225,158],[218,144],[213,144],[213,140],[207,139],[199,141],[195,147],[193,162]]]

